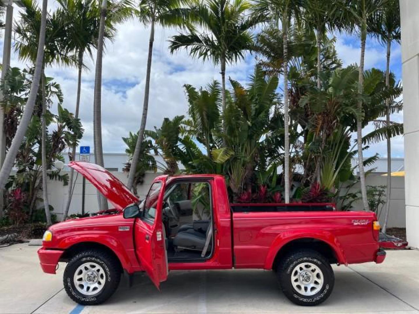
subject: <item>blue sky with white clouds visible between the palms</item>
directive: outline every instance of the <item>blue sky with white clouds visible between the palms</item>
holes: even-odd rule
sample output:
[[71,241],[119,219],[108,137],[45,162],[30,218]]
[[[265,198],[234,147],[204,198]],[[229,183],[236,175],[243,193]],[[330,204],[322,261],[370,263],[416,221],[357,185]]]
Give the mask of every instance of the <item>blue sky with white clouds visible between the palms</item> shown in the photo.
[[[184,51],[173,55],[168,52],[167,39],[175,33],[176,31],[172,29],[156,29],[147,129],[160,126],[165,117],[173,118],[176,115],[186,114],[184,84],[200,87],[207,85],[212,79],[220,80],[220,70],[210,62],[193,60]],[[345,34],[335,35],[337,37],[336,49],[344,65],[359,62],[360,44],[357,37]],[[149,29],[138,21],[130,21],[118,26],[115,41],[106,44],[107,48],[103,58],[102,89],[104,152],[123,152],[125,146],[121,137],[127,136],[129,131],[134,132],[139,128],[148,39]],[[0,45],[3,46],[3,35],[0,41]],[[1,47],[1,51],[3,51],[3,47]],[[90,70],[83,72],[80,118],[85,128],[85,136],[80,144],[93,146],[94,63],[91,60],[87,60],[86,63]],[[13,54],[11,64],[18,67],[25,66],[16,54]],[[254,65],[254,58],[249,55],[245,61],[229,66],[227,75],[235,80],[245,82],[253,72]],[[385,69],[385,48],[370,38],[367,40],[365,67]],[[393,44],[391,71],[396,74],[398,79],[401,79],[401,49],[398,44]],[[74,111],[77,70],[52,67],[47,68],[46,72],[61,85],[65,96],[64,106],[70,111]],[[392,119],[402,122],[403,114],[394,115]],[[372,127],[367,127],[365,132],[371,130]],[[398,136],[392,139],[392,145],[393,157],[403,157],[403,137]],[[386,157],[384,142],[372,145],[365,155],[370,156],[375,153]]]

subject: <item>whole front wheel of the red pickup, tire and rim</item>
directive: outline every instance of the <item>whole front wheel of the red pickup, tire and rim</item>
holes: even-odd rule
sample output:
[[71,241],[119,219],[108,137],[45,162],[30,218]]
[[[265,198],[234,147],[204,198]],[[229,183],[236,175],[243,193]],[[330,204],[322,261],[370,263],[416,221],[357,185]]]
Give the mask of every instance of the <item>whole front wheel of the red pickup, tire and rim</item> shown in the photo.
[[121,270],[115,258],[101,250],[75,255],[64,271],[64,288],[70,298],[82,305],[101,304],[118,288]]

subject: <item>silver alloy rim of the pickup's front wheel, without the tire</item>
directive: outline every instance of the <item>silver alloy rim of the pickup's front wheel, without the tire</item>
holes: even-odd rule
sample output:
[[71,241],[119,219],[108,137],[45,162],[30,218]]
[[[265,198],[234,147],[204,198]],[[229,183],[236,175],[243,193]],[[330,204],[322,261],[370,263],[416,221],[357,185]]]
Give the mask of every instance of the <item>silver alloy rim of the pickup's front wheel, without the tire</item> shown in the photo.
[[106,274],[96,263],[84,263],[74,273],[75,288],[85,296],[93,296],[102,291],[105,286]]

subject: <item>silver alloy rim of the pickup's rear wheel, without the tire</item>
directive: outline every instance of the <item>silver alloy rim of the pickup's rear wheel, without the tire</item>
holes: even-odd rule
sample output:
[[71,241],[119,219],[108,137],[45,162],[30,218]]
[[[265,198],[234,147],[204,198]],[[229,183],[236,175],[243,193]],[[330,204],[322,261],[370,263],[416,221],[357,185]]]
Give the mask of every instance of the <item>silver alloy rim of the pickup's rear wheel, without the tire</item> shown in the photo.
[[323,273],[312,263],[301,263],[292,270],[291,283],[303,296],[313,296],[323,287]]

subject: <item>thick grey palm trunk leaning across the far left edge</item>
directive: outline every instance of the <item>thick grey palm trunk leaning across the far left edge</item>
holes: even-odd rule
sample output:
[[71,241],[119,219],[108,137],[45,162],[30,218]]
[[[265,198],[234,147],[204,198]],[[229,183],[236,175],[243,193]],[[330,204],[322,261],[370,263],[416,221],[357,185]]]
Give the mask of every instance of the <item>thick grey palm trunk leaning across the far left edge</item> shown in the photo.
[[0,189],[3,190],[10,172],[12,171],[13,164],[16,160],[16,154],[21,146],[23,137],[26,134],[28,125],[31,122],[32,113],[34,112],[36,95],[39,89],[39,80],[41,78],[42,63],[44,60],[44,44],[45,44],[45,25],[47,20],[47,5],[48,0],[42,0],[42,13],[41,13],[41,28],[39,31],[38,51],[36,53],[35,72],[32,77],[31,91],[29,92],[28,100],[23,111],[23,116],[19,123],[15,137],[10,145],[9,151],[6,154],[3,166],[0,171]]

